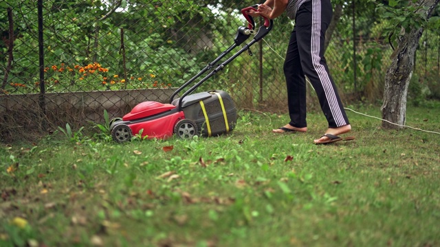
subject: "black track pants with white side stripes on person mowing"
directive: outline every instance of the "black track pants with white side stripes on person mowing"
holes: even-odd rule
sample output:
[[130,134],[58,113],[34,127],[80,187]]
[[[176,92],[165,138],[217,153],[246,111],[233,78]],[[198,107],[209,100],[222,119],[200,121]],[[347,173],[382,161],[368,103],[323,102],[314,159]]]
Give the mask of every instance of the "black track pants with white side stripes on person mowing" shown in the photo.
[[296,12],[284,63],[291,126],[307,127],[305,76],[318,95],[329,128],[349,124],[324,57],[325,32],[332,14],[330,0],[307,1]]

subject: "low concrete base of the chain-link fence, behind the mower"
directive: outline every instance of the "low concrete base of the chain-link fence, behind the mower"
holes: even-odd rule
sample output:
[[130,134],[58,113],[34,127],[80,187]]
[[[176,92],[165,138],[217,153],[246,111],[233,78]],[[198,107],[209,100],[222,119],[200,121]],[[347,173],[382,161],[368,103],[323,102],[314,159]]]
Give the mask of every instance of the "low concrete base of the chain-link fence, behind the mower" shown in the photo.
[[[168,103],[176,89],[139,89],[125,91],[89,91],[45,93],[44,110],[63,119],[63,115],[82,115],[89,121],[101,121],[107,110],[110,117],[122,117],[136,104],[144,101]],[[177,97],[176,97],[177,98]],[[40,115],[40,94],[0,95],[0,115],[10,112]],[[128,111],[127,111],[128,110]],[[0,120],[1,121],[1,120]]]

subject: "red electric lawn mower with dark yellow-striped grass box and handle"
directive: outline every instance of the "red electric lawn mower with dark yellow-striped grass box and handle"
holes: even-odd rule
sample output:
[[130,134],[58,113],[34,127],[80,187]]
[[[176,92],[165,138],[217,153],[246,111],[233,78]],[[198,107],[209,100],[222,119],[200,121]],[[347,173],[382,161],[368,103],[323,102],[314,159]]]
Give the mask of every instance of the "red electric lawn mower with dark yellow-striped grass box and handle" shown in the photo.
[[[140,134],[142,138],[148,139],[166,139],[172,137],[173,134],[177,134],[182,139],[190,139],[200,134],[211,137],[232,131],[236,125],[236,109],[230,95],[221,90],[202,93],[193,92],[244,51],[250,51],[250,46],[261,40],[272,30],[273,21],[264,18],[264,25],[259,28],[250,43],[219,64],[219,61],[229,54],[232,49],[244,43],[251,34],[254,34],[254,19],[246,12],[248,10],[256,11],[256,8],[257,5],[253,5],[241,10],[248,21],[248,27],[239,27],[234,38],[234,44],[223,51],[219,57],[210,62],[197,75],[180,86],[171,95],[169,104],[151,101],[142,102],[137,104],[130,113],[124,115],[122,119],[113,119],[110,124],[113,140],[118,143],[130,141],[133,134]],[[252,53],[250,54],[252,55]],[[210,71],[208,75],[191,86],[181,97],[174,99],[178,93],[207,71]]]

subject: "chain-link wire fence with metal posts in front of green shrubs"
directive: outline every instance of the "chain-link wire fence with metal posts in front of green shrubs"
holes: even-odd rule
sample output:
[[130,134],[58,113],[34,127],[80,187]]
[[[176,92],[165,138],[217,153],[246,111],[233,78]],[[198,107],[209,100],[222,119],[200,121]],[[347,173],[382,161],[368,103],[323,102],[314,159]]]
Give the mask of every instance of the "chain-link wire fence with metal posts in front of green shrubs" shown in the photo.
[[[239,2],[1,1],[1,141],[102,122],[104,110],[122,117],[140,102],[168,103],[247,26],[239,9],[254,2]],[[344,101],[380,100],[393,50],[383,35],[356,30],[355,21],[355,14],[340,19],[326,58]],[[221,89],[238,108],[285,112],[283,57],[292,27],[286,16],[276,19],[271,34],[197,91]],[[415,95],[438,90],[439,40],[423,33]]]

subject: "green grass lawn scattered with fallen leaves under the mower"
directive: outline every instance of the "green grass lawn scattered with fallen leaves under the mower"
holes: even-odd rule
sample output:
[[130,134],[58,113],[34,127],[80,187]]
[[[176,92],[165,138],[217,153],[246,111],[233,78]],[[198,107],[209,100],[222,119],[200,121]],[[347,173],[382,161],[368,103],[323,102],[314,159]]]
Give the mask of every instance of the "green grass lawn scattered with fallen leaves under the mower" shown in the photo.
[[437,134],[348,110],[356,139],[331,145],[322,113],[273,134],[287,116],[259,112],[207,139],[3,144],[0,246],[440,246],[439,108],[406,114]]

